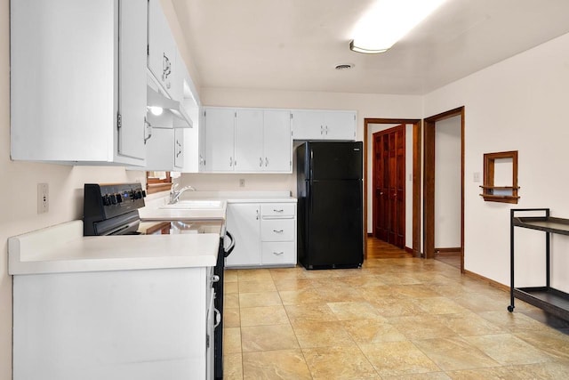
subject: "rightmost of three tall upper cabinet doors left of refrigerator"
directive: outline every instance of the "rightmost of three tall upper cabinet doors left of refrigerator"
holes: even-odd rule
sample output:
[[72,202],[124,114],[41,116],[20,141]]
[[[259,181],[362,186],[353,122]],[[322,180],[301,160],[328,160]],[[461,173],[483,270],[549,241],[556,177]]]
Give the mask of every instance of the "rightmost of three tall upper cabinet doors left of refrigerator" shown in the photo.
[[263,152],[262,164],[266,172],[293,171],[290,111],[264,111]]

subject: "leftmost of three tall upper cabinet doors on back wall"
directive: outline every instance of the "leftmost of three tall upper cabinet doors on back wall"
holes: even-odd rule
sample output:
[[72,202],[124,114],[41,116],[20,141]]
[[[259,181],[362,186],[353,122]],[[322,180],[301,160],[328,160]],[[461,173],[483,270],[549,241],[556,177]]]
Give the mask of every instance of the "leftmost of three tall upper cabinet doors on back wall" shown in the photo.
[[235,164],[235,111],[206,109],[205,167],[209,172],[233,172]]

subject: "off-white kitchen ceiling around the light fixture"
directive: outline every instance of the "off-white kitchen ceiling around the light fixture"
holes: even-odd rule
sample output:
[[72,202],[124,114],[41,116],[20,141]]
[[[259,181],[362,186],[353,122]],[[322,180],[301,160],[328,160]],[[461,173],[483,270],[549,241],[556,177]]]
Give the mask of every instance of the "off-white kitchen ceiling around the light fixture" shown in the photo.
[[353,53],[373,1],[172,4],[202,87],[424,94],[569,32],[568,0],[447,0],[388,52]]

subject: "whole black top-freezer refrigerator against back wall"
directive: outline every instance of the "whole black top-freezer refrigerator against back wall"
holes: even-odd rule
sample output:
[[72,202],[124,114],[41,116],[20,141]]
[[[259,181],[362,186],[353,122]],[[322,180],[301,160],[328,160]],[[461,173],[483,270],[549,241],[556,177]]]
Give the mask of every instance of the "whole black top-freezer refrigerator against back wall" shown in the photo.
[[364,263],[362,141],[308,141],[296,150],[298,258],[307,269]]

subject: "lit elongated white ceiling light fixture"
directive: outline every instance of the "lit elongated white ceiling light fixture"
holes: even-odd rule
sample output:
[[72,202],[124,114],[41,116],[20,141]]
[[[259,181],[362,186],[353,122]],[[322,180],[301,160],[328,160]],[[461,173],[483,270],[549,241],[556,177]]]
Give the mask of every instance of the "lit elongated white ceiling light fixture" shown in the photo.
[[357,53],[386,52],[445,0],[378,0],[357,21],[349,49]]

